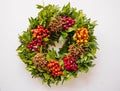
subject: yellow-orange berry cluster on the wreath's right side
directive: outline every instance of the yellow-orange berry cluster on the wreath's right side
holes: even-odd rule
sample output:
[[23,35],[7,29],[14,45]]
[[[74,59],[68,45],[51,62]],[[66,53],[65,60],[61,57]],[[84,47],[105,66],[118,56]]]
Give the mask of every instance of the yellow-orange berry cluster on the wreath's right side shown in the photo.
[[76,35],[75,37],[73,38],[77,43],[84,43],[86,44],[88,42],[88,30],[87,28],[79,28],[77,31],[76,31]]

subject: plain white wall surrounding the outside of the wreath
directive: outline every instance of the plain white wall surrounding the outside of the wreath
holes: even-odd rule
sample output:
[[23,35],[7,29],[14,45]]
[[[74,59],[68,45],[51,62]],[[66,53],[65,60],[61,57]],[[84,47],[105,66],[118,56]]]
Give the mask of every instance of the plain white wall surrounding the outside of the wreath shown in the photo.
[[[63,6],[68,0],[44,0]],[[19,59],[18,34],[28,27],[28,17],[38,13],[41,0],[0,0],[0,90],[1,91],[120,91],[120,0],[70,0],[71,5],[97,20],[100,50],[96,66],[64,85],[42,85],[33,79]]]

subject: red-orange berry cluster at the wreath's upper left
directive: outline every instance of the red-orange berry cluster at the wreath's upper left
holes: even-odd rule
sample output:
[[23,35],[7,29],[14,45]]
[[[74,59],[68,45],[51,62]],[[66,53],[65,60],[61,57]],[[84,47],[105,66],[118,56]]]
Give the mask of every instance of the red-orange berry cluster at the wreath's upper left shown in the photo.
[[41,25],[38,25],[37,29],[32,29],[31,32],[33,33],[33,37],[36,37],[38,39],[50,37],[50,31]]

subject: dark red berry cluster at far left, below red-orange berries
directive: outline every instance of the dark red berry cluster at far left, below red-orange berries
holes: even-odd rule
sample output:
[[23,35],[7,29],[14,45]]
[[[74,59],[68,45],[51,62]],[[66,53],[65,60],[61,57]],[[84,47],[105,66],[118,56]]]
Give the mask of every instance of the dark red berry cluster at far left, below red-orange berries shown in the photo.
[[28,44],[28,49],[31,51],[39,51],[39,47],[43,46],[44,43],[41,39],[34,39]]

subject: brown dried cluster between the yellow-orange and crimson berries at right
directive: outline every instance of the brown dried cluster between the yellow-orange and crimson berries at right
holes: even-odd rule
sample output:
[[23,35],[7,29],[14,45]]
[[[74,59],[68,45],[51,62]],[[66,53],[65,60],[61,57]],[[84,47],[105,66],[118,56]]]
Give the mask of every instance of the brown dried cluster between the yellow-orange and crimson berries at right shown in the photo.
[[73,55],[75,59],[78,59],[83,53],[84,49],[81,47],[81,45],[70,45],[68,52]]

